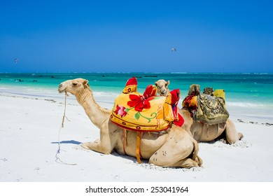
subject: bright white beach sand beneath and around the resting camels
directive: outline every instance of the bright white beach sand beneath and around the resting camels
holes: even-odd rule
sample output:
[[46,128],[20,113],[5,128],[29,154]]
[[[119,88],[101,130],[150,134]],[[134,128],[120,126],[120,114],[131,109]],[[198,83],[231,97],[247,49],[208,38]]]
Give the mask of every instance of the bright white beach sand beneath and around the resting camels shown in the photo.
[[[80,143],[94,141],[99,130],[92,125],[73,97],[67,100],[64,128],[58,133],[64,113],[64,98],[0,94],[1,182],[272,182],[273,127],[232,119],[244,139],[234,145],[222,141],[200,143],[202,167],[162,168],[138,164],[135,158],[117,153],[87,151]],[[111,109],[111,104],[100,103]],[[232,116],[231,116],[232,118]]]

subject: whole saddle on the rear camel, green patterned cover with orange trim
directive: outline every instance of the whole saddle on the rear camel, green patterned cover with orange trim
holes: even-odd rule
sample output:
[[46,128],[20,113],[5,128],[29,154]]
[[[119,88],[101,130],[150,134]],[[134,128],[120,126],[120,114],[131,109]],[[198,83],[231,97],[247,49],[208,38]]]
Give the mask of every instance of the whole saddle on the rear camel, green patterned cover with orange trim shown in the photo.
[[225,91],[212,88],[200,93],[200,85],[191,85],[188,96],[183,100],[183,108],[190,111],[193,120],[208,125],[225,123],[229,113],[225,108]]

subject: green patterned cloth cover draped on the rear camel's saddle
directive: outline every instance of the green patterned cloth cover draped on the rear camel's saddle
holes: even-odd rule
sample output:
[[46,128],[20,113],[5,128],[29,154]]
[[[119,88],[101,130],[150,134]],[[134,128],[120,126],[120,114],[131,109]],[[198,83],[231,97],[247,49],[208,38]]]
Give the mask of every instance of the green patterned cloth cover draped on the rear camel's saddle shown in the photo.
[[193,113],[193,119],[209,125],[225,123],[229,113],[225,108],[225,99],[199,94],[197,97],[197,110]]

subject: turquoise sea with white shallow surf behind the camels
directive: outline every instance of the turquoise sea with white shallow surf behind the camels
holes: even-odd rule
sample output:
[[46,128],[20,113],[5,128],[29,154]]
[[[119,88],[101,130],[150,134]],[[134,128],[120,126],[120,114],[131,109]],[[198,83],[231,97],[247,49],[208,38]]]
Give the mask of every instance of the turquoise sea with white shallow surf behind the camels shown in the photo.
[[126,81],[137,77],[138,91],[159,79],[170,81],[169,88],[181,90],[181,99],[193,83],[224,89],[230,114],[267,119],[273,123],[273,73],[0,73],[0,94],[33,97],[59,96],[59,83],[73,78],[89,80],[97,99],[113,102]]

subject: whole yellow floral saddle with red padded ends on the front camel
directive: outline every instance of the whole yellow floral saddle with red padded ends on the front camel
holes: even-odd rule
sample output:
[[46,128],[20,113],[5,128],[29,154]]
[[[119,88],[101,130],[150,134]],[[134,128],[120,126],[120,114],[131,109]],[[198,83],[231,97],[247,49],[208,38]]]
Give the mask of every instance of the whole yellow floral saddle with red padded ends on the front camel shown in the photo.
[[113,106],[111,120],[126,130],[160,132],[171,123],[182,126],[183,118],[177,112],[180,90],[173,90],[167,97],[158,97],[156,87],[148,85],[144,94],[137,92],[137,78],[127,81],[123,93]]

